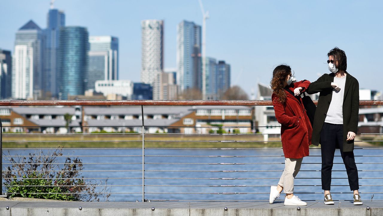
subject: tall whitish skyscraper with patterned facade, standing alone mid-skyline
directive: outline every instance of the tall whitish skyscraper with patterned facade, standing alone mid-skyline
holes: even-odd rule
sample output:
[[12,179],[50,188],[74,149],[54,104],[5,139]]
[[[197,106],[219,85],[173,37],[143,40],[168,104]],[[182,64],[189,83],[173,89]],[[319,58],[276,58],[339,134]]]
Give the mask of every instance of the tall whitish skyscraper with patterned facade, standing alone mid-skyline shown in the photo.
[[164,21],[141,21],[141,82],[153,85],[164,69]]

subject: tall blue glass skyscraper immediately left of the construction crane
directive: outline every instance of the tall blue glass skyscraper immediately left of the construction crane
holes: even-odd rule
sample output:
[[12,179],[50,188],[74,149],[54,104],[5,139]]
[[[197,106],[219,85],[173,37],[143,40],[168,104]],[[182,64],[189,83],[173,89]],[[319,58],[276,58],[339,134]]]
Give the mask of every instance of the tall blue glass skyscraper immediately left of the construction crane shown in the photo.
[[201,26],[185,20],[177,26],[177,84],[202,90]]

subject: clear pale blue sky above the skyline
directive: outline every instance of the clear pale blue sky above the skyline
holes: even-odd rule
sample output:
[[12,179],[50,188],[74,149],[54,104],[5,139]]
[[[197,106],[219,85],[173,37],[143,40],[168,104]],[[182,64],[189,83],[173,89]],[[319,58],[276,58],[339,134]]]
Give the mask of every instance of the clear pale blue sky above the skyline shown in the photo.
[[[33,20],[46,28],[49,0],[0,3],[0,48],[14,49],[16,31]],[[347,55],[347,72],[360,88],[383,91],[383,1],[202,0],[206,56],[231,65],[231,85],[249,95],[257,83],[269,84],[272,71],[288,64],[298,80],[329,73],[327,52]],[[164,66],[176,67],[177,24],[202,25],[198,0],[56,0],[67,26],[87,27],[90,36],[119,38],[119,77],[140,81],[141,20],[164,20]]]

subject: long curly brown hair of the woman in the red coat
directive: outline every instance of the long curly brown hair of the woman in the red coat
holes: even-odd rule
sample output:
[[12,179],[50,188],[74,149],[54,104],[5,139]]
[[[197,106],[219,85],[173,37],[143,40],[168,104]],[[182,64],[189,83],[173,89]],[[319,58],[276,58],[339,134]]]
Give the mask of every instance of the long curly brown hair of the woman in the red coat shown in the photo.
[[273,71],[273,79],[271,80],[271,89],[278,97],[280,103],[286,102],[286,91],[284,90],[286,76],[291,76],[291,68],[289,65],[278,65]]

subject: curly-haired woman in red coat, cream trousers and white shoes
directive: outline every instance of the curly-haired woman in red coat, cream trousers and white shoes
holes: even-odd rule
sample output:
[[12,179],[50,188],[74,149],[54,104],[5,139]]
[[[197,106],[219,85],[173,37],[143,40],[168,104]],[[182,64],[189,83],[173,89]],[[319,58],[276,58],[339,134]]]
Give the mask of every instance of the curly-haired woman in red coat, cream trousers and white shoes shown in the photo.
[[282,148],[285,154],[285,170],[278,186],[270,189],[270,204],[286,193],[285,205],[307,205],[293,194],[294,178],[301,168],[302,159],[309,155],[313,129],[304,109],[301,93],[310,85],[303,80],[296,82],[288,65],[278,65],[273,71],[271,88],[275,117],[281,124]]

